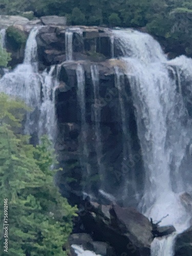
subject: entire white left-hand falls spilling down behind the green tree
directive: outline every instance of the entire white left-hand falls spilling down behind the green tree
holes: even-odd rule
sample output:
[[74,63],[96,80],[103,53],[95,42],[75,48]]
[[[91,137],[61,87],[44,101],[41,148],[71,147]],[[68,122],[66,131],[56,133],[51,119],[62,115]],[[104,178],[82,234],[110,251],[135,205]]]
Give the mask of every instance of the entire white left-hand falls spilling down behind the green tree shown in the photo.
[[[38,139],[43,134],[48,134],[53,141],[56,135],[55,119],[55,89],[58,86],[53,78],[55,66],[49,73],[45,70],[42,74],[37,72],[37,42],[36,35],[41,27],[31,30],[25,49],[24,62],[18,65],[13,72],[7,73],[0,80],[0,90],[10,96],[23,99],[35,112],[27,113],[25,133],[38,134]],[[42,88],[42,101],[41,101]],[[37,121],[39,123],[37,125]]]

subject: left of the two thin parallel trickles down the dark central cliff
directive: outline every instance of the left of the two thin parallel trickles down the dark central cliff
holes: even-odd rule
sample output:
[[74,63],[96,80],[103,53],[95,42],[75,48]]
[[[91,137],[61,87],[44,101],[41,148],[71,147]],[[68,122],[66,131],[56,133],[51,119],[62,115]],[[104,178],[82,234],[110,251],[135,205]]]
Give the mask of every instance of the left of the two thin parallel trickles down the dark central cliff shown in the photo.
[[[79,103],[80,107],[80,115],[81,115],[81,152],[82,157],[80,157],[81,166],[84,166],[86,169],[84,174],[84,179],[87,180],[91,177],[91,165],[89,164],[89,147],[88,147],[88,141],[87,141],[87,135],[88,135],[88,124],[86,121],[86,81],[84,76],[84,69],[81,64],[78,63],[77,69],[76,69],[76,75],[77,75],[77,101]],[[89,182],[88,182],[89,183]],[[87,184],[88,187],[90,184]]]

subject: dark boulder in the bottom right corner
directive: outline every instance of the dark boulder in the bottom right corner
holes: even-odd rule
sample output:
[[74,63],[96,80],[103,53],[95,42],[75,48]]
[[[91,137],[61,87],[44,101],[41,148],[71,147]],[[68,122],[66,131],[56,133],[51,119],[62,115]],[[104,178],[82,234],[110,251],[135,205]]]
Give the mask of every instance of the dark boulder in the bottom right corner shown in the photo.
[[179,234],[175,243],[175,256],[192,255],[192,226]]

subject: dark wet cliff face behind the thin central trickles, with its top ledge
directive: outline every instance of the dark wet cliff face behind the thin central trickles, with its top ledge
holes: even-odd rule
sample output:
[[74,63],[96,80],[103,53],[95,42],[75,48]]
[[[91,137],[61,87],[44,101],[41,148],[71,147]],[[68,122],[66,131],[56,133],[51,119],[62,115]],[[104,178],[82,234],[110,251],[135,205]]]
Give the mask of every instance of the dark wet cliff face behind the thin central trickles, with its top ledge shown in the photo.
[[[98,189],[102,187],[110,193],[114,194],[116,191],[116,194],[119,194],[119,184],[130,168],[125,164],[125,172],[121,172],[123,131],[120,98],[122,98],[128,109],[126,115],[129,116],[127,127],[131,134],[132,152],[130,153],[133,156],[138,155],[136,156],[138,160],[134,160],[138,192],[142,191],[142,157],[138,154],[140,146],[132,95],[129,81],[124,75],[124,64],[121,60],[112,58],[121,56],[122,53],[114,45],[111,31],[100,27],[68,27],[65,26],[65,18],[62,17],[50,16],[29,21],[23,17],[17,19],[14,16],[2,16],[0,28],[9,28],[6,47],[12,53],[10,66],[15,67],[23,62],[25,44],[20,41],[27,38],[30,30],[35,26],[39,26],[36,36],[38,70],[41,73],[55,65],[56,73],[53,76],[59,80],[59,87],[55,93],[59,134],[55,146],[60,165],[65,166],[65,173],[60,173],[58,178],[61,189],[65,185],[69,190],[77,189],[81,192],[85,190],[98,197]],[[81,74],[77,71],[79,67]],[[126,91],[124,96],[119,95],[115,67],[121,70],[121,79]],[[97,77],[95,72],[98,73]],[[79,80],[79,75],[83,77],[83,81]],[[80,82],[83,83],[81,87],[85,92],[83,99],[78,96]],[[99,84],[98,92],[94,88],[95,82]],[[84,104],[84,110],[81,103]],[[83,111],[86,125],[82,124]],[[83,131],[84,129],[86,131]],[[83,133],[86,133],[86,141]],[[87,148],[87,153],[82,154],[83,149],[80,145]],[[75,167],[69,168],[69,172],[66,172],[68,165]],[[105,171],[99,170],[98,165]],[[83,176],[85,169],[89,169],[89,177]],[[102,178],[99,172],[102,172]],[[66,176],[73,179],[73,182],[66,182]],[[130,179],[131,176],[132,174]],[[108,179],[109,182],[105,182]],[[85,184],[89,184],[89,187]],[[66,189],[63,190],[65,190],[63,193],[66,193]],[[137,205],[134,193],[131,188],[128,205]],[[122,203],[122,199],[118,198],[118,202]]]

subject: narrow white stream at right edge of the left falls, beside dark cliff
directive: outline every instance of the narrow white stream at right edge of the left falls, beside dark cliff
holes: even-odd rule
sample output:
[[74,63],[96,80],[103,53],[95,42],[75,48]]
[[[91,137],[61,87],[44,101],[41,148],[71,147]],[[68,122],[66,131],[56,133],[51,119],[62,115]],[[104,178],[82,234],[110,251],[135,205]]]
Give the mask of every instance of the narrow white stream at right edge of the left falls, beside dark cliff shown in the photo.
[[49,139],[55,141],[57,133],[57,122],[55,116],[55,89],[58,86],[58,81],[53,78],[55,66],[50,68],[50,71],[45,70],[42,73],[42,103],[40,105],[40,117],[38,137],[43,134],[48,134]]

